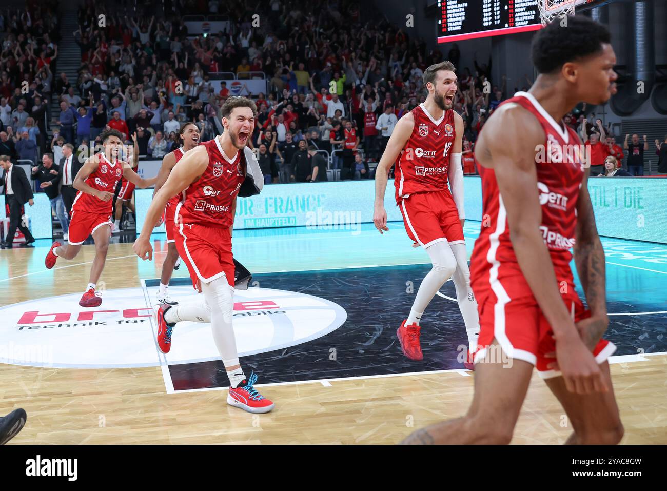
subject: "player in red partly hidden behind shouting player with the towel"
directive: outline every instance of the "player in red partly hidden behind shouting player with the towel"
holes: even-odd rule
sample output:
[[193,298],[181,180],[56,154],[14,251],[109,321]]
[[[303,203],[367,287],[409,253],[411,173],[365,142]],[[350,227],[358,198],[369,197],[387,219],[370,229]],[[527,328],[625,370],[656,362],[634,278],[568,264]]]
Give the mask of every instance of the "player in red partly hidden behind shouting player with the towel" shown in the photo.
[[[157,174],[157,183],[155,183],[155,191],[153,191],[153,196],[159,191],[162,185],[167,181],[169,173],[173,166],[176,165],[177,161],[185,155],[185,152],[190,151],[197,145],[199,145],[199,127],[195,123],[188,121],[183,123],[178,132],[178,137],[183,143],[180,147],[167,153],[162,159],[162,166],[160,171]],[[167,233],[167,257],[162,263],[162,274],[160,276],[160,290],[157,293],[157,301],[161,304],[167,305],[177,305],[178,302],[173,300],[169,296],[169,280],[171,280],[171,275],[173,270],[177,270],[179,265],[178,251],[176,250],[175,243],[175,233],[178,233],[177,229],[174,228],[174,213],[178,202],[181,199],[181,195],[177,194],[167,201],[167,205],[162,213],[161,219],[158,221],[157,225],[160,222],[165,224],[165,232]]]

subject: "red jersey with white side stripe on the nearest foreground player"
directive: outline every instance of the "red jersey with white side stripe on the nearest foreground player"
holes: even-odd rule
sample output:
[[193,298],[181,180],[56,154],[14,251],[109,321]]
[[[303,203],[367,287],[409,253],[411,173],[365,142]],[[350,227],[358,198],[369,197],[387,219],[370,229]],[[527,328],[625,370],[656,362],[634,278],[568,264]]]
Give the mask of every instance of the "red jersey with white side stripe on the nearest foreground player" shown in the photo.
[[[539,193],[542,205],[540,231],[549,249],[556,278],[574,289],[570,248],[574,246],[576,204],[584,179],[584,165],[576,155],[580,140],[570,127],[563,128],[556,123],[529,93],[518,92],[506,103],[516,103],[528,109],[546,133],[544,148],[550,158],[536,159],[535,164],[538,177],[538,189],[535,191]],[[508,138],[517,136],[508,135]],[[484,224],[475,241],[470,265],[473,288],[480,289],[478,291],[490,288],[498,295],[496,289],[500,285],[510,299],[531,295],[512,248],[507,213],[494,169],[478,165],[478,171],[482,177],[482,213],[490,218],[490,223]],[[511,280],[508,281],[508,278]]]

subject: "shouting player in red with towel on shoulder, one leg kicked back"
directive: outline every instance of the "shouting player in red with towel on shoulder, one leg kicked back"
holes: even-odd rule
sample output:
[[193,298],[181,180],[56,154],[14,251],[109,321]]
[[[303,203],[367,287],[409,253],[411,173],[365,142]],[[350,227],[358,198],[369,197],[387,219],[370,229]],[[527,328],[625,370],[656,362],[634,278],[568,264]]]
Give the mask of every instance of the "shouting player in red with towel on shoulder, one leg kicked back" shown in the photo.
[[134,251],[141,259],[152,258],[149,239],[153,223],[167,201],[181,193],[175,211],[176,248],[190,272],[193,286],[203,292],[204,299],[198,305],[155,306],[157,345],[163,353],[169,352],[177,322],[210,322],[215,346],[229,377],[227,404],[264,413],[273,409],[273,402],[254,388],[255,374],[249,378],[243,374],[231,325],[234,295],[231,229],[236,197],[251,165],[250,159],[254,159],[257,173],[261,173],[254,153],[245,149],[256,114],[255,103],[250,99],[230,97],[225,101],[221,109],[224,132],[187,151],[173,166],[151,201]]

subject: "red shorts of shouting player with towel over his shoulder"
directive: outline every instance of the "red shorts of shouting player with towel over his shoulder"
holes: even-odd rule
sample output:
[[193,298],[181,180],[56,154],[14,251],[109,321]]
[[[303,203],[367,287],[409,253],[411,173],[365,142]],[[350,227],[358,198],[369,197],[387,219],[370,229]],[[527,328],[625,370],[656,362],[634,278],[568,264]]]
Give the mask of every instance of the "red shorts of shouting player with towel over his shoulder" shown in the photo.
[[184,223],[175,230],[175,236],[176,249],[190,272],[194,288],[201,290],[198,282],[209,283],[223,275],[234,288],[229,227]]

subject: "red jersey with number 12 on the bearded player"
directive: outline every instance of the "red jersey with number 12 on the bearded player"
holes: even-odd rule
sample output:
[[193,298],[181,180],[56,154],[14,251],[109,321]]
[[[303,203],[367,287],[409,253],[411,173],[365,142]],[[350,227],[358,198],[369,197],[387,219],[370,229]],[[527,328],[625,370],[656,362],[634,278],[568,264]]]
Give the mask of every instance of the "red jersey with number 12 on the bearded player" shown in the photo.
[[449,191],[447,173],[456,139],[454,111],[444,111],[437,121],[426,111],[424,103],[410,112],[415,120],[414,129],[394,171],[397,202],[412,193]]

